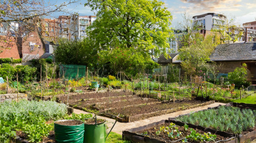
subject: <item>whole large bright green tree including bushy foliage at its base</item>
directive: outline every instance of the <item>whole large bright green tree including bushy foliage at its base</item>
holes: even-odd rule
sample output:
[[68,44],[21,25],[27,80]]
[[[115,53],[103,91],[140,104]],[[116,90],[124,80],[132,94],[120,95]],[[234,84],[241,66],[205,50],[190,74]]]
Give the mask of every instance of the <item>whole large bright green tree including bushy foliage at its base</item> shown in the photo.
[[[92,47],[101,62],[110,62],[113,74],[134,69],[153,69],[155,56],[166,54],[172,35],[171,13],[159,0],[87,0],[85,6],[97,11],[88,27]],[[153,62],[153,63],[152,63]]]

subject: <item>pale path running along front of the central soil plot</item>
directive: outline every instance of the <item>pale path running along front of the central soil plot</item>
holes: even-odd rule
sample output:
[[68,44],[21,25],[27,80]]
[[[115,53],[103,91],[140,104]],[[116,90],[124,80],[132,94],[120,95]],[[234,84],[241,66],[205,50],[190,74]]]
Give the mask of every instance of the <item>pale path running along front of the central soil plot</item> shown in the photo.
[[[161,116],[151,117],[151,118],[147,118],[147,119],[139,120],[139,121],[135,121],[135,122],[130,122],[130,123],[117,122],[115,127],[113,128],[112,132],[122,134],[122,131],[124,131],[125,129],[131,129],[131,128],[136,128],[136,127],[140,127],[140,126],[145,126],[145,125],[148,125],[150,123],[158,122],[158,121],[161,121],[161,120],[168,120],[168,118],[171,118],[171,117],[177,117],[179,115],[188,114],[188,113],[193,112],[193,111],[204,110],[204,109],[207,109],[208,107],[216,107],[216,106],[219,106],[219,105],[226,105],[226,104],[215,102],[215,103],[210,104],[210,105],[201,106],[201,107],[188,109],[188,110],[183,110],[183,111],[178,111],[178,112],[165,114],[165,115],[161,115]],[[81,111],[81,110],[78,110],[78,109],[74,109],[74,113],[76,113],[76,114],[80,114],[80,113],[88,114],[87,112],[84,112],[84,111]],[[97,118],[106,119],[107,122],[113,122],[113,123],[115,122],[114,119],[109,119],[109,118],[102,117],[102,116],[97,116]],[[107,125],[109,127],[109,130],[113,126],[113,124],[107,124]]]

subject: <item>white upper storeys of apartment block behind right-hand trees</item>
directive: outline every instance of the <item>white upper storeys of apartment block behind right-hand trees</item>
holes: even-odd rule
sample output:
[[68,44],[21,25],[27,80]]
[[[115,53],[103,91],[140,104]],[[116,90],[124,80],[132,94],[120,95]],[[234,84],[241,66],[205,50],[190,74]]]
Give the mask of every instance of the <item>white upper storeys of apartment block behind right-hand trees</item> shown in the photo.
[[219,28],[227,23],[227,17],[219,13],[205,13],[202,15],[193,16],[193,26],[198,26],[200,29],[212,30]]

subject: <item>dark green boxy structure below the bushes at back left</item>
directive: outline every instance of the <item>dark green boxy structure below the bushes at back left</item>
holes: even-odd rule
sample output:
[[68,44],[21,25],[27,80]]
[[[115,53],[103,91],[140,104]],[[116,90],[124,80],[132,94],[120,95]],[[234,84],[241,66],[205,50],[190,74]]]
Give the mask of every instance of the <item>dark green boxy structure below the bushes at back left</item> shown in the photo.
[[[60,77],[65,76],[66,79],[77,79],[85,76],[86,66],[83,65],[59,65]],[[78,72],[78,74],[77,74]]]

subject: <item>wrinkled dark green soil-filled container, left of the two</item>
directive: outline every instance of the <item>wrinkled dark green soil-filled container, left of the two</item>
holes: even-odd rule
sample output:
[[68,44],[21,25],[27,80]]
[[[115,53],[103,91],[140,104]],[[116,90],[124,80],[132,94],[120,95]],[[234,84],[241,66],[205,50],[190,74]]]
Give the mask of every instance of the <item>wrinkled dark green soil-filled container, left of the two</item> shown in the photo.
[[73,121],[73,120],[59,120],[54,122],[55,141],[57,143],[83,143],[84,123],[82,121],[79,125],[59,125],[58,122]]

